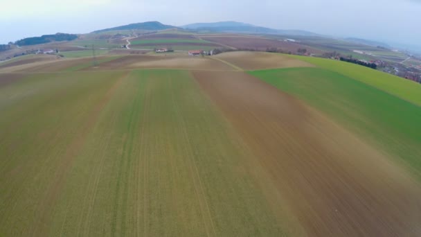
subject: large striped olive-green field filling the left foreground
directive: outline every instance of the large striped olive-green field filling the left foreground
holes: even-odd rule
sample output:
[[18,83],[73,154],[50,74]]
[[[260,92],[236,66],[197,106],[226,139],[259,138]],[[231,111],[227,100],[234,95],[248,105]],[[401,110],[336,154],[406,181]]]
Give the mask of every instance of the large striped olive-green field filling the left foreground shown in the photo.
[[186,71],[35,73],[0,87],[0,114],[0,236],[285,234]]

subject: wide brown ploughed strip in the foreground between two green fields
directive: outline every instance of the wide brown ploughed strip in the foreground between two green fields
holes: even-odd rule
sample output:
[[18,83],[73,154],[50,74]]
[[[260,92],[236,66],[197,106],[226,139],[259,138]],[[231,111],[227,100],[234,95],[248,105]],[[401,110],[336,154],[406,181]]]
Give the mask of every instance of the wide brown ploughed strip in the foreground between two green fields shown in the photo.
[[245,73],[194,75],[309,236],[421,236],[421,188],[388,157]]

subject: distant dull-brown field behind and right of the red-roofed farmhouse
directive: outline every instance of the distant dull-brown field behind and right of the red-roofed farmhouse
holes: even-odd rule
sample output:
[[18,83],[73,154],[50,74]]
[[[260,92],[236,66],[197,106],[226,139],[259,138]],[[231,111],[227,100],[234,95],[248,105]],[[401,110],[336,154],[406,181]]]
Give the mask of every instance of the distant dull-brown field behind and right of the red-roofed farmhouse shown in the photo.
[[244,36],[203,36],[201,39],[215,42],[218,44],[225,44],[228,46],[235,47],[237,49],[255,49],[256,51],[265,51],[268,48],[281,49],[283,51],[296,52],[298,49],[307,49],[308,53],[323,53],[319,49],[313,49],[308,46],[303,46],[300,44],[292,42],[283,42],[280,40],[269,40],[259,37],[244,37]]

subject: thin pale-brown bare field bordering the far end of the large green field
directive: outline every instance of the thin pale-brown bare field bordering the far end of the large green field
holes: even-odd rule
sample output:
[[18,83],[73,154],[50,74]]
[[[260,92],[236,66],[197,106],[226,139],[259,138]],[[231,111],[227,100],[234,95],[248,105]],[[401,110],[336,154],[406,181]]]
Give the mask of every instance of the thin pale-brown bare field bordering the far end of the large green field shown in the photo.
[[233,67],[211,58],[179,55],[127,55],[105,62],[98,67],[84,70],[103,69],[190,69],[211,71],[235,71]]

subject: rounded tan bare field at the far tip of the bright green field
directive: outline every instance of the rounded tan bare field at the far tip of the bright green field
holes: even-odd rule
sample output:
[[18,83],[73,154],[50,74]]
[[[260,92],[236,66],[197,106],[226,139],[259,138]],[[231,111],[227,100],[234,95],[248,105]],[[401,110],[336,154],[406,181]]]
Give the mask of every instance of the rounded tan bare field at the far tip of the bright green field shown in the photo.
[[213,56],[244,70],[272,69],[284,67],[314,67],[314,65],[289,58],[278,53],[229,52]]

